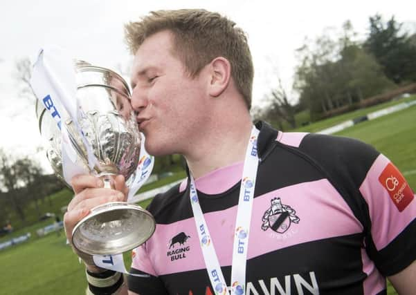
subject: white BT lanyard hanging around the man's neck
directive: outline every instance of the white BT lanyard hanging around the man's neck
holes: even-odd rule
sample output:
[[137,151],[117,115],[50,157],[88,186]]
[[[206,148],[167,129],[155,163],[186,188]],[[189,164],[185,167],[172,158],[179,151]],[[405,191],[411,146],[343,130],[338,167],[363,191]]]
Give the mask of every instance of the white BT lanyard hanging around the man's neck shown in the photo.
[[221,266],[219,265],[217,254],[215,253],[215,247],[210,238],[210,233],[201,206],[199,205],[195,181],[192,175],[190,175],[190,203],[194,213],[195,224],[197,225],[197,232],[201,242],[201,250],[204,256],[206,270],[215,294],[230,294],[230,292],[231,294],[245,294],[248,230],[250,229],[251,209],[253,208],[255,180],[257,176],[257,137],[259,133],[260,131],[253,126],[246,149],[242,182],[239,188],[237,218],[235,220],[230,288],[227,287],[221,272]]

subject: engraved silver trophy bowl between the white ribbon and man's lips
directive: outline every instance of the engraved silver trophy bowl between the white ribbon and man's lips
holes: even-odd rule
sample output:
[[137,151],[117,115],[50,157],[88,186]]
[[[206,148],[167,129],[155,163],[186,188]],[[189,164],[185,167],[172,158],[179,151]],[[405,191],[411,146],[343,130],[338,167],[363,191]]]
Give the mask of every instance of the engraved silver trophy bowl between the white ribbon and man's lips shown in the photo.
[[129,179],[140,155],[129,88],[116,73],[85,62],[78,63],[77,72],[78,123],[98,160],[94,169],[98,175],[122,174]]

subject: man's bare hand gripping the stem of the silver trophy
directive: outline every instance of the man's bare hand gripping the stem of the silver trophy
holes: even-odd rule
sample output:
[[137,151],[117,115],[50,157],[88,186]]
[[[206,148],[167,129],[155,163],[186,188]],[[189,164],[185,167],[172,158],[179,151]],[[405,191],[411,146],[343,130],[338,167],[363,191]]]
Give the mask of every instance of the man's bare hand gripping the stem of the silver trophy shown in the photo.
[[[107,202],[127,201],[128,188],[125,185],[123,175],[117,175],[111,182],[111,187],[114,187],[114,189],[104,188],[104,182],[92,175],[76,175],[71,180],[75,196],[69,202],[68,209],[64,215],[66,238],[68,238],[70,243],[72,241],[73,228],[91,212],[91,209]],[[84,260],[90,272],[102,271],[94,265],[91,255],[78,251],[73,247],[72,243],[71,246],[75,254]]]

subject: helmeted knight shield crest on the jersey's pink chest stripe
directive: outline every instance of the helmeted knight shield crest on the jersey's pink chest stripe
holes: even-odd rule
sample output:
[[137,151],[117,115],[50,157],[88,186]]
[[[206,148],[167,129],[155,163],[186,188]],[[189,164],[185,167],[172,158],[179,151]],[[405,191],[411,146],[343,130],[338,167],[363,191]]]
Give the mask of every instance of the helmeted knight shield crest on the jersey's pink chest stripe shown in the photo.
[[271,207],[264,212],[262,218],[262,230],[266,231],[273,229],[273,231],[283,234],[289,229],[291,222],[299,223],[300,218],[296,216],[296,211],[289,205],[282,204],[280,198],[271,199]]

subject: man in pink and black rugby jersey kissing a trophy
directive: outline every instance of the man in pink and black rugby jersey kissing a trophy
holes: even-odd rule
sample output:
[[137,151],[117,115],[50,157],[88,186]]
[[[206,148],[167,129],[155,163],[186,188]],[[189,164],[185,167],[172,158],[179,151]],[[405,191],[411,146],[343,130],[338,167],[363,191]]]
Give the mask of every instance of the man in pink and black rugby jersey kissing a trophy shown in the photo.
[[[149,276],[129,276],[129,294],[386,294],[386,276],[414,294],[416,201],[387,158],[356,140],[253,129],[247,40],[216,13],[152,12],[126,32],[146,149],[181,153],[189,169],[148,208],[156,231],[132,272]],[[72,184],[69,240],[127,191],[121,176],[115,189],[91,175]],[[127,293],[123,276],[78,255],[89,292]]]

